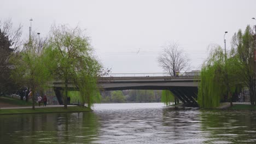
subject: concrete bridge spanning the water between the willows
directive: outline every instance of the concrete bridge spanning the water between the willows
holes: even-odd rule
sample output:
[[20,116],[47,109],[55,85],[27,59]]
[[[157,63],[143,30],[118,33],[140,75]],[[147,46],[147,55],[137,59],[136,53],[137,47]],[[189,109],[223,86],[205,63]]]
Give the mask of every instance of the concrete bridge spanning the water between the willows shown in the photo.
[[[159,74],[162,75],[159,76]],[[182,74],[178,77],[167,76],[165,74],[166,73],[110,74],[110,76],[98,79],[98,86],[104,89],[104,91],[124,89],[170,90],[184,104],[197,104],[197,87],[200,81],[198,74]],[[55,81],[53,82],[53,87],[59,103],[62,104],[60,91],[63,89],[64,83],[62,81]],[[68,89],[72,91],[75,89],[75,86],[69,83]]]

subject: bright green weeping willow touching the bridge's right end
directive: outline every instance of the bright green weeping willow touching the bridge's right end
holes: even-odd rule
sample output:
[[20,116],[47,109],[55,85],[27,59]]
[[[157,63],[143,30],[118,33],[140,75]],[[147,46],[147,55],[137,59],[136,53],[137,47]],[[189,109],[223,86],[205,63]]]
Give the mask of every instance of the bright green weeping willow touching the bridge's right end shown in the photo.
[[200,107],[216,107],[226,91],[224,85],[225,56],[220,47],[214,49],[201,69],[197,103]]

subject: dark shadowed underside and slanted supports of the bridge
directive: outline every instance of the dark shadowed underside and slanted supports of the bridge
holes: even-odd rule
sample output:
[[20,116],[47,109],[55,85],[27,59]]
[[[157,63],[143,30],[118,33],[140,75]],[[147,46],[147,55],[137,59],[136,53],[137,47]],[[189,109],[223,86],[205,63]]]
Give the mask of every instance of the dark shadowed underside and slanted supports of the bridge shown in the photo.
[[[185,106],[193,106],[198,107],[196,102],[197,99],[197,87],[163,87],[163,86],[134,86],[134,87],[114,87],[114,88],[102,88],[104,91],[117,91],[117,90],[126,90],[126,89],[152,89],[152,90],[169,90],[171,91],[176,97],[181,100]],[[55,95],[59,104],[63,104],[63,95],[62,87],[54,87]],[[68,91],[77,91],[77,89],[69,88]]]

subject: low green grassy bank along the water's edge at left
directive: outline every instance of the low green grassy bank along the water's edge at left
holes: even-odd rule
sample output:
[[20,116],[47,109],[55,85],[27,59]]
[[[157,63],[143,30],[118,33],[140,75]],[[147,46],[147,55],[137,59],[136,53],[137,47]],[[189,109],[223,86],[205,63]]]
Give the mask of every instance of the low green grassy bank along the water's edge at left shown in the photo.
[[29,109],[0,109],[0,115],[13,115],[13,114],[27,114],[27,113],[59,113],[59,112],[88,112],[92,111],[88,107],[82,106],[69,106],[67,109],[64,107],[44,107],[33,110]]

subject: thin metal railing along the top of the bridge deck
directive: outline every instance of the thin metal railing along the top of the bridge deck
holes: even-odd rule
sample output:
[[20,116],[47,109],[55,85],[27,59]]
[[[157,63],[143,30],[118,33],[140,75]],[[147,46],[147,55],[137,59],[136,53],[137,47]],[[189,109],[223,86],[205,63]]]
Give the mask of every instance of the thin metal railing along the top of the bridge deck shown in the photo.
[[[103,77],[149,77],[149,76],[171,76],[169,73],[111,73]],[[178,73],[176,77],[198,77],[200,72]],[[174,76],[173,76],[174,77]]]

